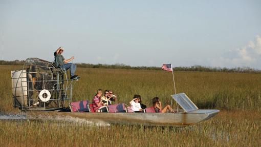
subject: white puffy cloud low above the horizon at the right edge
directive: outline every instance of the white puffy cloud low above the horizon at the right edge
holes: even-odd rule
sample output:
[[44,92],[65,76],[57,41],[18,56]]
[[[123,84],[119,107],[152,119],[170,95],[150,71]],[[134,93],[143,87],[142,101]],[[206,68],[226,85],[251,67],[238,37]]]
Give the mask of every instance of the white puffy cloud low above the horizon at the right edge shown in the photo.
[[255,41],[241,48],[230,50],[223,57],[210,59],[215,67],[251,67],[261,68],[261,37],[257,35]]

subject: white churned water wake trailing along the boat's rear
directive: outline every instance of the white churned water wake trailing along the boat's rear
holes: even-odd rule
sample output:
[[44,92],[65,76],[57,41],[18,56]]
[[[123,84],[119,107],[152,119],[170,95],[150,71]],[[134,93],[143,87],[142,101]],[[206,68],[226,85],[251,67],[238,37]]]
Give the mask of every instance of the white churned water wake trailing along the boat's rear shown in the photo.
[[30,116],[26,114],[3,114],[0,113],[0,120],[45,120],[45,121],[63,121],[63,122],[70,122],[76,124],[83,124],[83,125],[96,125],[100,127],[106,127],[110,126],[109,123],[105,122],[93,122],[93,121],[88,121],[86,119],[81,119],[77,117],[71,117],[71,116],[46,116],[46,115],[38,115],[38,116]]

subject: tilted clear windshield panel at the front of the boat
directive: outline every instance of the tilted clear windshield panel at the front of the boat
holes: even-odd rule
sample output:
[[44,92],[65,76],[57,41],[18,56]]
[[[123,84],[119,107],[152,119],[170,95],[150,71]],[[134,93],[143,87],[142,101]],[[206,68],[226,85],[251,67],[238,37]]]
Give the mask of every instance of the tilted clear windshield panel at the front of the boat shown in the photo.
[[171,96],[185,112],[199,109],[185,93],[173,94]]

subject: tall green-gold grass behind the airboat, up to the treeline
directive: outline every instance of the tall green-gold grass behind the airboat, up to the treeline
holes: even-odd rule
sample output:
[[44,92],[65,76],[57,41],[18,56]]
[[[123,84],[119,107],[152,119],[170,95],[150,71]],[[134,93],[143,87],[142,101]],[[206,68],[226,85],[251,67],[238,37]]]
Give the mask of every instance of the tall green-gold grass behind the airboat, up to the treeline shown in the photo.
[[[0,111],[12,108],[11,70],[19,66],[0,66]],[[81,77],[73,91],[73,101],[92,100],[98,89],[113,90],[118,102],[128,103],[134,94],[151,106],[158,96],[169,104],[174,94],[171,72],[158,70],[78,68]],[[175,72],[177,93],[185,92],[200,109],[260,110],[261,74],[222,72]]]

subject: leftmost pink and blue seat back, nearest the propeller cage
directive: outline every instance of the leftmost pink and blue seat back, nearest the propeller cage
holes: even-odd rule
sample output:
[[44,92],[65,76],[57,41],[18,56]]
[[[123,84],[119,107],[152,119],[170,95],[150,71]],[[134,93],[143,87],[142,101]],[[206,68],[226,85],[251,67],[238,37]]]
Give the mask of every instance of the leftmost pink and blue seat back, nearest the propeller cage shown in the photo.
[[70,103],[71,112],[90,112],[89,100],[81,100]]

